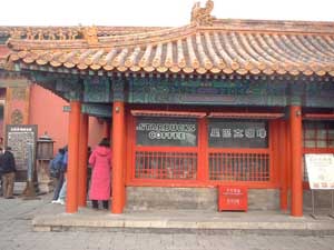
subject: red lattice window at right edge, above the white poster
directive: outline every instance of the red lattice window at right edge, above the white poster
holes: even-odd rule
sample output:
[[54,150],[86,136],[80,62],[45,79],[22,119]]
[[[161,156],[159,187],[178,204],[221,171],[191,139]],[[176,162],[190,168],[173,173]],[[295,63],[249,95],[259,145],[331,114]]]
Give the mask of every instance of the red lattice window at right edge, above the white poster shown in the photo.
[[334,148],[334,122],[305,121],[303,139],[305,148]]

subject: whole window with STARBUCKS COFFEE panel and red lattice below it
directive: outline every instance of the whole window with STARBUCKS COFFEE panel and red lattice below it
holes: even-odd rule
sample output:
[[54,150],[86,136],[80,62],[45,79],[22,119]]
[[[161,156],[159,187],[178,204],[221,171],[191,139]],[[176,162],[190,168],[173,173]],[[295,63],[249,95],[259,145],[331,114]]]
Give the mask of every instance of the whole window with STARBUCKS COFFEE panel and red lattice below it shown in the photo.
[[135,178],[196,180],[196,119],[139,117],[136,120]]

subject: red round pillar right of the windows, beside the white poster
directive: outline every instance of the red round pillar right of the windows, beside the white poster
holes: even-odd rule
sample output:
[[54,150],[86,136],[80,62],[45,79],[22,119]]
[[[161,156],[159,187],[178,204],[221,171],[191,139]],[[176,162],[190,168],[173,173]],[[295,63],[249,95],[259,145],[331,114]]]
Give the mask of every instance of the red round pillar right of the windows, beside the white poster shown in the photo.
[[292,158],[292,208],[291,214],[303,216],[303,174],[302,174],[302,109],[289,108],[291,158]]

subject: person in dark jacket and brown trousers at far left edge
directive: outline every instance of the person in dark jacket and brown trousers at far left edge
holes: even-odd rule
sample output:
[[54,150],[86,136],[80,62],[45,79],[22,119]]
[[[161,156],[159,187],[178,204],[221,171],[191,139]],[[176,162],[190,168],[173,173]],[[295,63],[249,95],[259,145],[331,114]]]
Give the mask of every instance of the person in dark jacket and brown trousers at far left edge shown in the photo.
[[13,186],[16,180],[16,160],[11,152],[11,148],[7,147],[4,153],[1,157],[1,172],[2,172],[2,191],[3,198],[13,198]]

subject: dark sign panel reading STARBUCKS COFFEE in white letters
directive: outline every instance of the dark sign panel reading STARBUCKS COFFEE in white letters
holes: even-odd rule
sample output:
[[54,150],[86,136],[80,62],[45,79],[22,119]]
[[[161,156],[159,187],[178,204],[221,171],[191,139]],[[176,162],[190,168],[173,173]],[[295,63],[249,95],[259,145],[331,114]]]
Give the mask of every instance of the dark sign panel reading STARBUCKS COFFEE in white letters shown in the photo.
[[183,118],[138,118],[137,146],[196,147],[197,121]]

